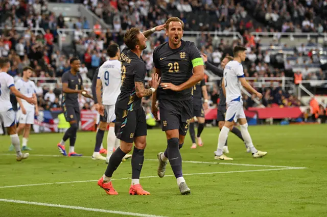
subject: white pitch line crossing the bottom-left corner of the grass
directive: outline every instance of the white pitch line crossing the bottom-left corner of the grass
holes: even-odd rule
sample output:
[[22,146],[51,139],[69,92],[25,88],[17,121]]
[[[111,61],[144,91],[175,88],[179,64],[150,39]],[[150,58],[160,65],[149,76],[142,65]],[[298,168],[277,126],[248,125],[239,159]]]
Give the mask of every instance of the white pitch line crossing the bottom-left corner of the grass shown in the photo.
[[68,206],[68,205],[60,205],[60,204],[53,204],[53,203],[39,203],[39,202],[24,201],[24,200],[8,200],[8,199],[0,198],[0,201],[9,202],[9,203],[30,204],[30,205],[37,205],[37,206],[50,206],[50,207],[58,207],[58,208],[66,208],[66,209],[77,209],[77,210],[85,210],[85,211],[92,211],[92,212],[105,212],[105,213],[113,213],[113,214],[121,214],[121,215],[132,215],[132,216],[142,216],[142,217],[165,217],[162,215],[151,215],[151,214],[142,214],[137,212],[124,212],[124,211],[115,211],[115,210],[108,210],[108,209],[87,208],[82,206]]

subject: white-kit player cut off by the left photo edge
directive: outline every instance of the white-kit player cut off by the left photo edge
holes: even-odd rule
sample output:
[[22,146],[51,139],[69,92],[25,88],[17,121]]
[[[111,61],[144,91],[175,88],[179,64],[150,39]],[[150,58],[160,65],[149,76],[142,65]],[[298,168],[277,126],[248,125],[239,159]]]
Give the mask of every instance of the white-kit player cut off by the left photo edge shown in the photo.
[[0,58],[0,122],[7,128],[11,138],[11,143],[16,150],[16,160],[20,161],[26,159],[29,153],[21,153],[19,137],[17,134],[15,123],[15,112],[12,109],[10,102],[10,91],[15,94],[16,97],[26,100],[28,103],[36,104],[37,101],[32,97],[27,97],[21,94],[14,85],[14,78],[7,74],[10,67],[8,58]]

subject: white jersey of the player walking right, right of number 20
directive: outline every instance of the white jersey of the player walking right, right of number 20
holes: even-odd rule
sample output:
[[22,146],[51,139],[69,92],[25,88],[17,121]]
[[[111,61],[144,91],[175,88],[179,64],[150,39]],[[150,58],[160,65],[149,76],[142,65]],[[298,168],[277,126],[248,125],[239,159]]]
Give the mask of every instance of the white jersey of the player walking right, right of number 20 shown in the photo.
[[224,69],[226,102],[233,101],[239,97],[240,100],[242,99],[239,77],[244,77],[242,64],[237,61],[228,62]]

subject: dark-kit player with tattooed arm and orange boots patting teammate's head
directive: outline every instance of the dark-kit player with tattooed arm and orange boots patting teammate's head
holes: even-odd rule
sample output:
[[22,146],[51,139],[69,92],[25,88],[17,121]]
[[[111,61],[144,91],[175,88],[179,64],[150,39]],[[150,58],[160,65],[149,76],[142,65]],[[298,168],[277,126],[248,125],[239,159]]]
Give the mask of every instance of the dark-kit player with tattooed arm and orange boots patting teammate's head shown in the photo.
[[142,97],[150,96],[159,86],[160,78],[152,74],[151,88],[145,89],[146,64],[141,54],[147,48],[147,38],[155,31],[165,29],[165,25],[141,33],[137,28],[128,30],[124,37],[126,48],[121,52],[122,61],[122,87],[115,104],[115,134],[121,140],[120,147],[110,156],[105,174],[99,179],[98,185],[108,195],[118,195],[112,186],[111,177],[119,167],[123,157],[134,149],[132,154],[132,183],[129,188],[130,195],[150,195],[139,184],[139,176],[144,161],[144,149],[147,145],[146,115],[141,105]]

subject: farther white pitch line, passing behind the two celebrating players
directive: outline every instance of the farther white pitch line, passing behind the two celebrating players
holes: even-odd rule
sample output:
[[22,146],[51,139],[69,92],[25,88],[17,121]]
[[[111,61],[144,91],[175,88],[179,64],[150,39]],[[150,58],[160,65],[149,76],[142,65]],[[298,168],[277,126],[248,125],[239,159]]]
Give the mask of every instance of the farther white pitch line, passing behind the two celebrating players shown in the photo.
[[[0,155],[14,155],[7,153],[0,153]],[[55,154],[31,154],[30,157],[64,157],[62,155]],[[81,156],[84,158],[91,158],[91,156]],[[158,159],[145,159],[148,161],[158,161]],[[221,164],[221,165],[235,165],[235,166],[248,166],[248,167],[272,167],[272,168],[294,168],[294,169],[305,169],[303,167],[289,167],[289,166],[274,166],[274,165],[254,165],[254,164],[234,164],[234,163],[226,163],[226,162],[209,162],[209,161],[194,161],[194,160],[182,160],[184,163],[191,164]]]

